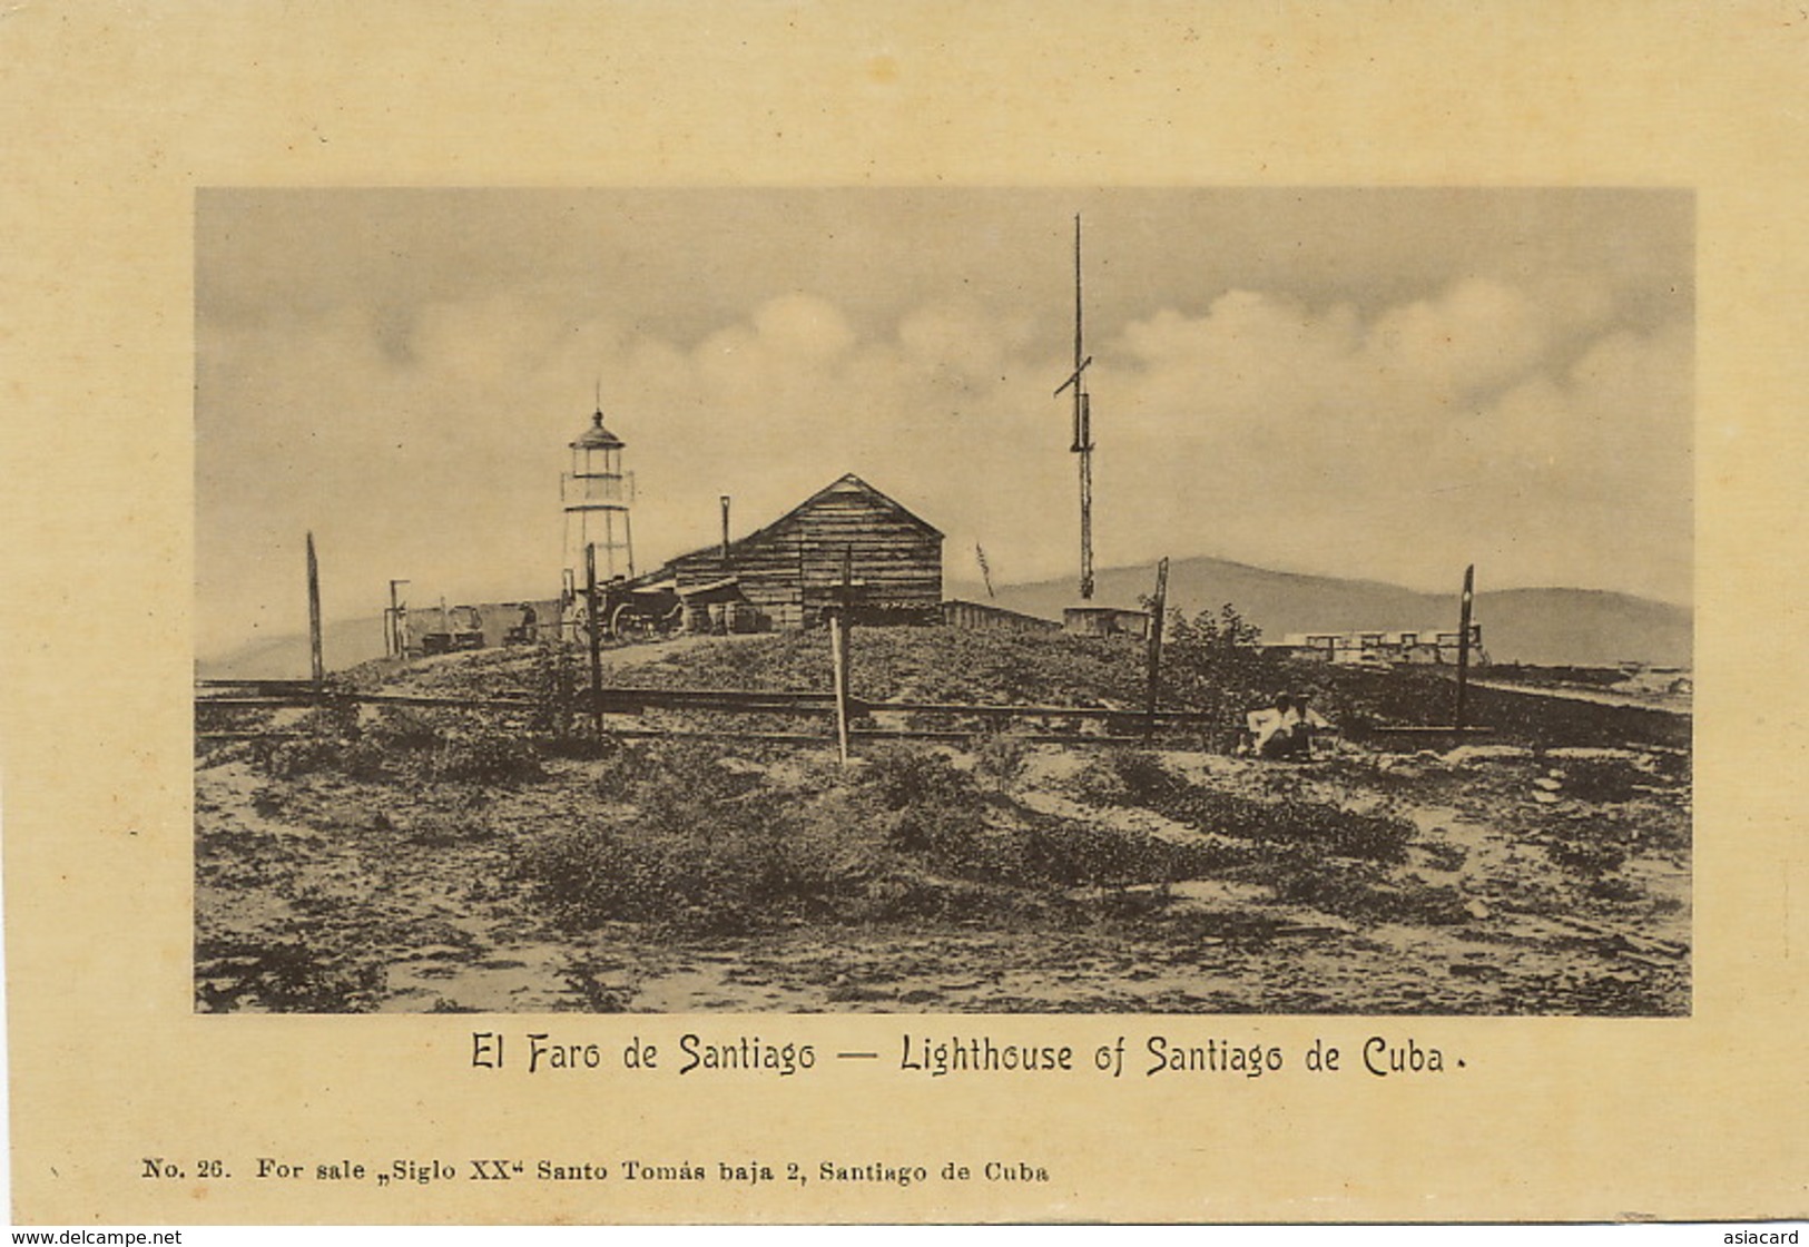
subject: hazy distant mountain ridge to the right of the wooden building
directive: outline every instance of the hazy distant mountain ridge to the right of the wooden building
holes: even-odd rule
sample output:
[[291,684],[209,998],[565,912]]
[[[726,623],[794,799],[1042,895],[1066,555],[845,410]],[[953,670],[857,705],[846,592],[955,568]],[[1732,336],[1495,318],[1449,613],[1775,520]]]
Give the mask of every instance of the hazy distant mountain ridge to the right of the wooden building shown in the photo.
[[[1094,601],[1136,606],[1154,588],[1154,566],[1118,566],[1098,572]],[[986,601],[986,590],[952,581],[950,597]],[[1060,619],[1078,601],[1073,579],[1008,585],[997,604],[1028,615]],[[1189,615],[1223,603],[1268,641],[1297,632],[1454,630],[1458,595],[1420,594],[1380,581],[1270,572],[1227,559],[1192,557],[1169,565],[1169,604]],[[1610,666],[1650,662],[1691,664],[1691,612],[1630,594],[1583,588],[1509,588],[1476,594],[1474,619],[1483,648],[1496,662],[1549,666]]]

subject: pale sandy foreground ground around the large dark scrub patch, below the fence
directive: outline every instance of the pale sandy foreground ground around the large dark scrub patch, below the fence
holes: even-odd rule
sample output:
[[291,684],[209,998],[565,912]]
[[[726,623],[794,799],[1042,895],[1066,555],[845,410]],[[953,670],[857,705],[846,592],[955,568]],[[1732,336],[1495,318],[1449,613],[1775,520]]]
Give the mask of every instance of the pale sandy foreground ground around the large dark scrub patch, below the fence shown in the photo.
[[[1407,820],[1406,851],[1366,865],[1364,890],[1340,903],[1252,865],[1056,889],[1024,921],[783,919],[736,934],[555,921],[523,849],[597,816],[604,760],[546,757],[532,782],[420,784],[280,775],[260,757],[233,746],[197,764],[204,1012],[1690,1010],[1690,766],[1675,747],[1335,742],[1310,764],[1170,749],[1156,762],[1190,793]],[[1228,843],[1134,791],[1102,798],[1098,758],[1031,746],[997,800],[1140,842]],[[774,784],[807,764],[827,766],[736,762]]]

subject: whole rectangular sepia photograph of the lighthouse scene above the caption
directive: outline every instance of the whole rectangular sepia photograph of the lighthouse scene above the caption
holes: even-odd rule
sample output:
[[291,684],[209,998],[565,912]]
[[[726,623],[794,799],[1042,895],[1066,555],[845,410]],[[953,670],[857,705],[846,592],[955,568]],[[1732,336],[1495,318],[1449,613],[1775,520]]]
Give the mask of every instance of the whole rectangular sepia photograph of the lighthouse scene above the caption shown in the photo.
[[199,1014],[1691,1014],[1686,188],[195,192]]

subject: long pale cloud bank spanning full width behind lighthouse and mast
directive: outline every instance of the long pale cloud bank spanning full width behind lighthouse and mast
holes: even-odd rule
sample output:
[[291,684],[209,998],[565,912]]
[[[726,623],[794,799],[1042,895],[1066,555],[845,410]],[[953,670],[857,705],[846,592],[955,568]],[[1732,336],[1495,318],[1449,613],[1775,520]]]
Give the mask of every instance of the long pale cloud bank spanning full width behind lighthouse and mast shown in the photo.
[[[1438,585],[1690,592],[1688,324],[1634,331],[1586,277],[1460,279],[1377,308],[1232,290],[1098,333],[1098,559],[1225,554]],[[203,652],[293,630],[300,534],[329,614],[557,586],[557,474],[602,384],[639,561],[747,530],[854,471],[966,574],[1075,563],[1066,338],[979,300],[859,320],[792,291],[689,344],[525,293],[201,328]],[[407,349],[398,351],[396,344]],[[259,624],[259,621],[266,621]]]

